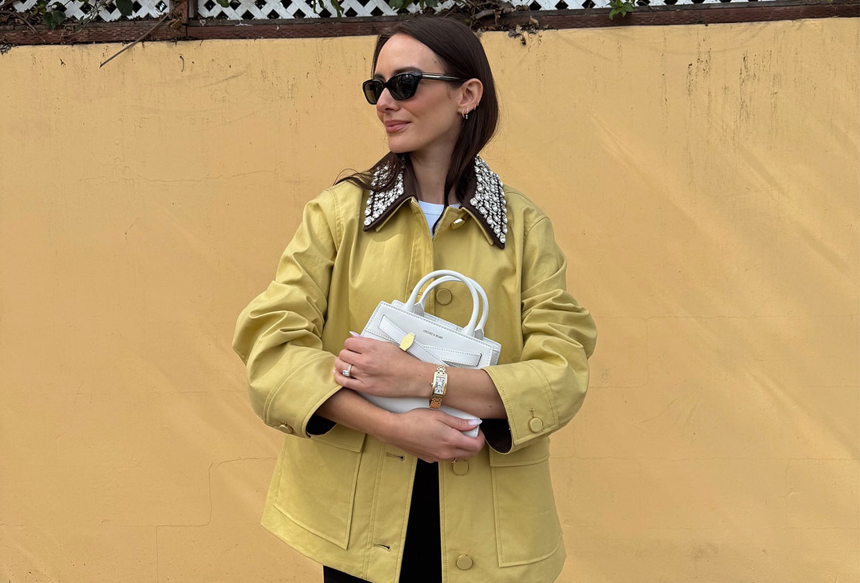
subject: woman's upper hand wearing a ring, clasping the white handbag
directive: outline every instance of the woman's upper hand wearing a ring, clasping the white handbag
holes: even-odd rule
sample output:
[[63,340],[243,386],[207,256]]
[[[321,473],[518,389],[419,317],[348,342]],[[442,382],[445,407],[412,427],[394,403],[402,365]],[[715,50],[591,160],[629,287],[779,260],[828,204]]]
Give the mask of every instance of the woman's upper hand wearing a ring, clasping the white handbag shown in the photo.
[[[429,399],[434,369],[395,344],[354,336],[347,338],[335,358],[335,382],[378,397]],[[349,371],[348,376],[344,370]]]

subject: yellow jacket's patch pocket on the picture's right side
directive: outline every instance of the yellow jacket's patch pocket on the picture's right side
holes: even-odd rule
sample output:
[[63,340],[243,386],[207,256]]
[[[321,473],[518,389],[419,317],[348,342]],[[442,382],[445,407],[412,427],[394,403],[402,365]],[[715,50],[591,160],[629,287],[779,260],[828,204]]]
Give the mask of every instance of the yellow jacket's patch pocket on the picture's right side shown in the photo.
[[553,555],[562,543],[562,525],[550,481],[550,440],[540,438],[507,455],[490,450],[489,465],[499,566]]

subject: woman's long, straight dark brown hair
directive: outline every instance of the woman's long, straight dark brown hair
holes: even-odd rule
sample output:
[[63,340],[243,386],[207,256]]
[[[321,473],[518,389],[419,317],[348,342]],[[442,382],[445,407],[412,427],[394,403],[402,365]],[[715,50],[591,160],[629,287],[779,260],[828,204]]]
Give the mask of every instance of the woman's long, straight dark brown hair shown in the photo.
[[[481,41],[463,23],[444,16],[415,16],[396,22],[379,34],[373,52],[371,74],[376,69],[379,52],[395,34],[407,34],[436,53],[442,61],[446,75],[462,79],[476,78],[483,84],[480,106],[471,111],[469,119],[463,122],[454,151],[451,152],[448,175],[445,177],[444,192],[448,193],[453,189],[457,200],[462,203],[468,177],[473,172],[474,159],[493,137],[499,121],[499,102],[495,96],[493,71],[490,71],[487,53],[484,53]],[[347,180],[362,189],[387,190],[394,185],[403,165],[404,158],[394,152],[388,152],[368,171],[341,178],[338,182]],[[376,171],[383,171],[381,182],[372,185],[372,177]],[[445,205],[447,203],[445,196]]]

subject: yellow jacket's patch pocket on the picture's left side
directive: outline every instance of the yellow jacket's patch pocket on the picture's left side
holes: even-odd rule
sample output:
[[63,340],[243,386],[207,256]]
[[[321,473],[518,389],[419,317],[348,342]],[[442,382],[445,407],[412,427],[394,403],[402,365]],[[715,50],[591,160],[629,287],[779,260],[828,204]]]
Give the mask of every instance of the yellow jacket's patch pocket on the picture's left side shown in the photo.
[[325,436],[284,440],[275,508],[342,549],[349,543],[364,435],[338,425]]

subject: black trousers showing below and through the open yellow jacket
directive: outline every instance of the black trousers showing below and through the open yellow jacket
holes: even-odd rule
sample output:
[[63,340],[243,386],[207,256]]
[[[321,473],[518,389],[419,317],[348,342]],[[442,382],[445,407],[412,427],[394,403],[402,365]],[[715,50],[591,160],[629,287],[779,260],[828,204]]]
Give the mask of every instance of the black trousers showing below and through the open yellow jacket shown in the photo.
[[[403,545],[400,583],[442,583],[439,533],[439,467],[418,460]],[[432,549],[436,549],[433,553]],[[331,567],[322,567],[323,583],[367,583]]]

